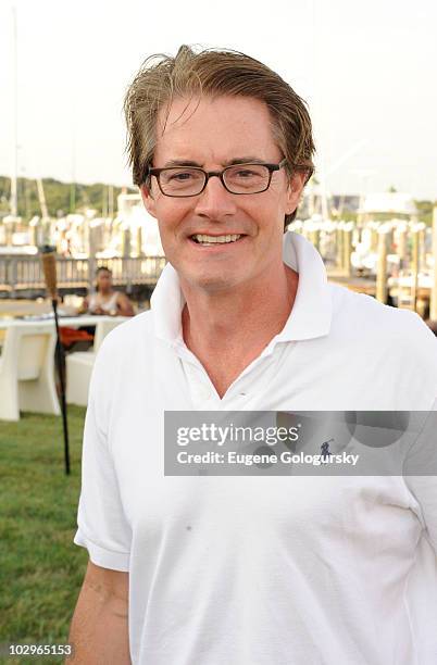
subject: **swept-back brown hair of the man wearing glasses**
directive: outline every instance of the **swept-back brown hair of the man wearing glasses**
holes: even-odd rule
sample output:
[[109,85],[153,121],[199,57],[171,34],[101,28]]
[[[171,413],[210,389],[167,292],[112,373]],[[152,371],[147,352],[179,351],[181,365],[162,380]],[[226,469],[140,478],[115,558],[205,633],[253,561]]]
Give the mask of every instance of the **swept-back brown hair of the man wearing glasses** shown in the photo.
[[[262,62],[232,50],[207,49],[196,52],[182,46],[175,58],[151,55],[130,84],[124,112],[127,125],[127,153],[134,184],[147,180],[157,145],[158,114],[165,106],[165,122],[175,98],[236,96],[264,102],[272,118],[273,136],[287,159],[287,172],[313,173],[315,151],[311,118],[305,102],[273,70]],[[165,123],[164,123],[165,128]],[[285,226],[296,216],[286,215]]]

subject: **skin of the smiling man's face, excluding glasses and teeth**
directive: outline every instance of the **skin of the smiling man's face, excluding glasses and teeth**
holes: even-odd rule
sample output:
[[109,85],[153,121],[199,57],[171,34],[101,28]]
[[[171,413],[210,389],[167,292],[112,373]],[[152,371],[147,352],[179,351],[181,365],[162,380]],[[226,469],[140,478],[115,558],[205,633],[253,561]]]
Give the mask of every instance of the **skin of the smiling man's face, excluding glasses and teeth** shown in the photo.
[[[235,160],[277,164],[283,159],[272,135],[266,105],[252,98],[176,99],[162,134],[158,120],[153,167],[197,165],[222,171]],[[158,219],[162,246],[182,285],[207,291],[265,284],[282,261],[284,216],[292,212],[303,176],[290,183],[286,171],[274,172],[262,193],[233,195],[212,177],[196,197],[164,196],[155,177],[141,188],[147,210]],[[239,236],[233,242],[202,244],[193,236]]]

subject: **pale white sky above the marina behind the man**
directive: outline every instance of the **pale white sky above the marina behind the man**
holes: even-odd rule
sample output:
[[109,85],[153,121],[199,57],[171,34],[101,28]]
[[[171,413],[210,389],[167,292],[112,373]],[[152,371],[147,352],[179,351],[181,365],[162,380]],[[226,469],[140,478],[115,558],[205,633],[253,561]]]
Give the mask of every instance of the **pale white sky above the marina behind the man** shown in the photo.
[[[244,51],[308,104],[332,193],[437,199],[434,0],[0,0],[0,175],[132,185],[123,97],[150,54]],[[434,81],[434,83],[433,83]]]

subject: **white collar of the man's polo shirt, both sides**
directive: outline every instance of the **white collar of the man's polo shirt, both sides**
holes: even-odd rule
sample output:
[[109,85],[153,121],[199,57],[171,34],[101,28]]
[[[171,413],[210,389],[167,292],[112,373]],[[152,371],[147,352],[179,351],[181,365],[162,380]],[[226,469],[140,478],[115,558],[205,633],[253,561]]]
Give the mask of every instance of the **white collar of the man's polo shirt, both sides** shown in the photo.
[[[299,284],[287,323],[272,342],[314,339],[328,335],[332,298],[321,255],[305,238],[287,231],[283,240],[283,260],[299,273]],[[150,299],[157,337],[172,344],[183,341],[180,314],[184,304],[185,297],[180,290],[179,278],[174,267],[167,263]]]

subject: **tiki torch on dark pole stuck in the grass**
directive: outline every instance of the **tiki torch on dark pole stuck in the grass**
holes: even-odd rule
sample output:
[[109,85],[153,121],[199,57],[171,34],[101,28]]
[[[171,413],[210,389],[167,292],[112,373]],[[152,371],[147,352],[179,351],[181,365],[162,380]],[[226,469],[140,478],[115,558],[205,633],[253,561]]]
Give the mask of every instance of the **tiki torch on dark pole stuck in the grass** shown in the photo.
[[65,473],[70,475],[70,448],[68,448],[68,426],[66,419],[66,401],[65,401],[65,357],[64,349],[61,342],[61,336],[59,332],[59,321],[58,321],[58,289],[57,289],[57,260],[54,254],[54,248],[45,244],[41,249],[42,254],[42,269],[47,286],[47,291],[51,299],[51,304],[54,314],[54,325],[57,328],[57,367],[59,381],[61,387],[61,411],[62,411],[62,425],[64,429],[64,456],[65,456]]

